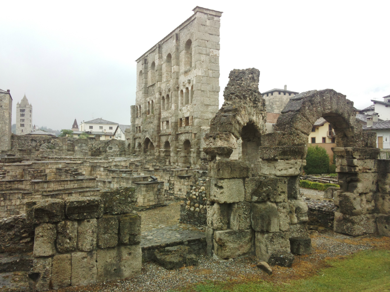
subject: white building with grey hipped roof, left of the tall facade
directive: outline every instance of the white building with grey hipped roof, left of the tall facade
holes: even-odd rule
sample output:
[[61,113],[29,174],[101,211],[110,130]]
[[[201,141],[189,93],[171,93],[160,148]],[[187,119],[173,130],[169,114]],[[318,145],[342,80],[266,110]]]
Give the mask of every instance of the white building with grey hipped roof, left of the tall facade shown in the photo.
[[97,118],[91,121],[83,121],[79,125],[80,131],[73,131],[73,137],[80,137],[82,133],[87,133],[89,137],[101,135],[100,140],[114,139],[114,131],[119,124]]

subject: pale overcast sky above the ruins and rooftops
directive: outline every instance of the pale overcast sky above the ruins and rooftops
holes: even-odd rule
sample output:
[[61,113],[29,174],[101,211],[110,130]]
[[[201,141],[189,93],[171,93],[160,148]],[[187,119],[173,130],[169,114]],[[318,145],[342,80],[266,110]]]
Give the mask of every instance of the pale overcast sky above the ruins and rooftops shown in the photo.
[[0,0],[0,88],[24,94],[33,123],[130,124],[136,62],[199,5],[223,11],[220,105],[232,69],[260,70],[259,90],[333,88],[362,109],[390,94],[390,1]]

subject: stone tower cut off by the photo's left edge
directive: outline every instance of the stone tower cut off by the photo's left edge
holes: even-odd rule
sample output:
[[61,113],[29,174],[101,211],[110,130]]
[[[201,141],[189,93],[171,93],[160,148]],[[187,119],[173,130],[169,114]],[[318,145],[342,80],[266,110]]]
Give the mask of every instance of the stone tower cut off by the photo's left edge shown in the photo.
[[12,97],[0,89],[0,151],[11,149]]

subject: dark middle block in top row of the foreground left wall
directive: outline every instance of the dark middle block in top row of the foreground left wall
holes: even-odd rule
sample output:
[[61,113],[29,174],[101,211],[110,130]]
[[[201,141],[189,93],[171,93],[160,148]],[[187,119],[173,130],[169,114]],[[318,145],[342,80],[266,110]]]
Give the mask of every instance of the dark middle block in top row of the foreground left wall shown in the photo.
[[65,199],[65,209],[70,220],[100,218],[103,201],[100,197],[69,197]]

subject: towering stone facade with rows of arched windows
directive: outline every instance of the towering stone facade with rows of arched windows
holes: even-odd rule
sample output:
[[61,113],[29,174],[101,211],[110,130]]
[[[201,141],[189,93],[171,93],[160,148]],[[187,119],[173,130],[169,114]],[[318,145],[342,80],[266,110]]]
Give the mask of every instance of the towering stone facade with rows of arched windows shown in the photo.
[[219,105],[220,17],[194,14],[137,59],[136,105],[131,106],[128,151],[166,156],[167,164],[194,166],[202,137]]

